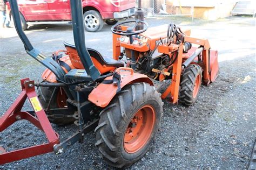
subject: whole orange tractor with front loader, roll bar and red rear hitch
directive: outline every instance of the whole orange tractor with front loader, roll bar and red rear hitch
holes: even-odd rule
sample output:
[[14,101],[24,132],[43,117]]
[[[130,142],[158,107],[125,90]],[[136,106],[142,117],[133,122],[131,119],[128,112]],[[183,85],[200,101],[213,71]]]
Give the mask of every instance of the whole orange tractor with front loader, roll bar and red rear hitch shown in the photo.
[[[129,167],[143,157],[158,131],[162,99],[186,106],[196,102],[201,83],[218,76],[218,52],[206,39],[190,37],[175,24],[149,28],[143,20],[114,25],[113,58],[86,48],[81,1],[70,1],[75,45],[46,57],[25,36],[17,2],[10,0],[15,27],[26,52],[46,70],[43,82],[21,80],[22,93],[0,119],[0,131],[26,119],[41,129],[49,143],[6,152],[0,164],[35,155],[60,154],[94,130],[96,146],[107,164]],[[129,25],[130,24],[130,25]],[[131,26],[132,24],[132,26]],[[161,84],[168,86],[162,94]],[[38,93],[35,91],[38,87]],[[33,110],[22,111],[29,99]],[[60,142],[51,123],[75,123],[78,131]]]

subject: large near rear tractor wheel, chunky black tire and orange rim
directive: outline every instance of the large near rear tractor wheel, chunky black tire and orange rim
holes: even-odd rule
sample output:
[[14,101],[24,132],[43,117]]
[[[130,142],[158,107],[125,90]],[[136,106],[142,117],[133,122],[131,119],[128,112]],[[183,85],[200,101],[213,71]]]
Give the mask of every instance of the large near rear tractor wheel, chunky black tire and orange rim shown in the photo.
[[158,131],[163,102],[147,83],[133,83],[99,114],[96,146],[107,164],[129,167],[143,157]]

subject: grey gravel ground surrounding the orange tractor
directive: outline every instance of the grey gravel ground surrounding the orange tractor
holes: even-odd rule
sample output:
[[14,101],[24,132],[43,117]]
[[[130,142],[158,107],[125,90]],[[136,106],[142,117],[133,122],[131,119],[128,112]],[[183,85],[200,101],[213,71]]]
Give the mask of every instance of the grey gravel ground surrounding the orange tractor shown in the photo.
[[[156,22],[157,21],[157,22]],[[192,28],[192,36],[207,38],[219,51],[220,75],[210,86],[201,86],[198,102],[190,108],[164,100],[164,116],[153,145],[131,169],[245,169],[255,138],[255,19],[230,17],[207,22],[188,18],[147,19],[150,26],[171,21]],[[25,31],[32,44],[50,55],[72,41],[68,24],[35,25]],[[40,79],[44,70],[25,54],[14,29],[0,30],[0,113],[3,114],[20,92],[19,79]],[[110,26],[99,33],[86,33],[86,42],[105,56],[112,55]],[[104,46],[102,45],[104,44]],[[25,109],[31,109],[28,104]],[[0,115],[1,115],[0,114]],[[77,130],[75,125],[53,128],[61,139]],[[5,168],[108,167],[94,146],[95,133],[85,136],[61,155],[48,153],[0,166]],[[11,151],[46,141],[42,132],[19,121],[0,133],[0,145]]]

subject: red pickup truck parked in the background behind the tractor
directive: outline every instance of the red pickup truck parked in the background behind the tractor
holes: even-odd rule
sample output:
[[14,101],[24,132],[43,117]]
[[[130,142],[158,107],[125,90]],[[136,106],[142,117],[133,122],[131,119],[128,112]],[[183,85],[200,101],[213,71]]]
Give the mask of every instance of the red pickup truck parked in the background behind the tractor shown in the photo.
[[[114,25],[134,15],[136,0],[82,0],[84,25],[89,32],[100,31],[104,22]],[[10,4],[6,3],[11,17]],[[70,0],[18,0],[23,30],[28,22],[71,20]]]

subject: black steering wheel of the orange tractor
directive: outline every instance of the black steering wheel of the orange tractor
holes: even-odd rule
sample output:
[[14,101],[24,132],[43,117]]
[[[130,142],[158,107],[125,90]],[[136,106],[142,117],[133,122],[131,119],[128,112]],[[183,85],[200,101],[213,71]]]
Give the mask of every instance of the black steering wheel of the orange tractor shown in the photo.
[[[135,24],[133,25],[133,27],[128,27],[126,31],[121,30],[121,25],[127,24],[127,23],[135,23]],[[142,24],[143,24],[143,29],[136,31],[136,30],[135,30],[135,29],[136,29],[136,26],[137,26],[139,23],[142,23]],[[145,32],[148,27],[149,27],[149,24],[147,24],[146,22],[144,22],[144,21],[142,21],[142,20],[129,20],[129,21],[122,22],[122,23],[118,23],[118,24],[112,26],[112,27],[111,27],[111,31],[112,31],[114,34],[118,34],[118,35],[120,35],[120,36],[133,36],[133,35],[136,35],[136,34],[140,34],[140,33]]]

